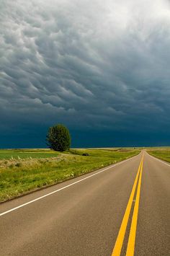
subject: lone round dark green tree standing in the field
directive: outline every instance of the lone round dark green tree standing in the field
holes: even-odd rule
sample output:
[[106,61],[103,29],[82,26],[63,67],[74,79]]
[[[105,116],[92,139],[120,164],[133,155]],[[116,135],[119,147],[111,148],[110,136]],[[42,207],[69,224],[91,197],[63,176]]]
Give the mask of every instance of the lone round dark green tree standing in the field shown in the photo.
[[65,151],[70,149],[71,136],[68,128],[61,124],[50,127],[46,141],[49,148],[55,151]]

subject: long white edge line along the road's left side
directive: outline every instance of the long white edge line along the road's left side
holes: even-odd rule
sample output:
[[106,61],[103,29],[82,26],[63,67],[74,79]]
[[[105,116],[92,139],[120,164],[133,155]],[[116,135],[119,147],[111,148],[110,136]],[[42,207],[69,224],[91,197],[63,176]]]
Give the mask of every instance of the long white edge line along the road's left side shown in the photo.
[[[137,155],[137,156],[138,156],[138,155]],[[102,169],[102,171],[99,171],[99,172],[94,173],[93,175],[90,175],[90,176],[85,177],[85,178],[83,178],[83,179],[81,179],[81,180],[78,180],[78,181],[76,181],[76,182],[73,182],[73,183],[71,183],[71,184],[69,184],[69,185],[66,185],[65,187],[61,187],[61,188],[59,188],[58,190],[55,190],[55,191],[53,191],[53,192],[50,192],[50,193],[48,193],[48,194],[46,194],[46,195],[42,195],[42,196],[40,196],[40,198],[36,198],[36,199],[31,200],[31,201],[29,201],[29,202],[27,202],[27,203],[23,203],[22,205],[19,205],[19,206],[17,206],[17,207],[14,207],[14,208],[12,208],[12,209],[10,209],[10,210],[8,210],[8,211],[4,211],[3,213],[0,213],[0,216],[3,216],[3,215],[5,215],[5,214],[7,214],[7,213],[10,213],[10,212],[12,212],[12,211],[15,211],[15,210],[17,210],[17,209],[19,209],[19,208],[22,208],[23,206],[27,206],[28,204],[34,203],[35,201],[40,200],[40,199],[42,199],[42,198],[46,198],[48,195],[53,195],[54,193],[57,193],[58,191],[64,190],[65,188],[71,187],[71,186],[75,185],[76,183],[79,183],[79,182],[81,182],[81,181],[83,181],[83,180],[89,179],[90,177],[93,177],[94,175],[99,175],[99,173],[104,172],[104,171],[106,171],[107,169],[110,169],[110,168],[112,168],[112,167],[115,167],[115,166],[117,166],[117,165],[119,165],[119,164],[122,164],[122,163],[124,163],[124,162],[127,162],[127,161],[129,161],[129,160],[131,160],[131,159],[133,159],[133,158],[135,158],[135,157],[137,157],[137,156],[130,157],[129,159],[126,159],[126,160],[123,160],[123,161],[121,161],[121,162],[118,162],[117,164],[112,164],[112,165],[110,165],[109,167],[107,167],[107,168],[105,168],[105,169]]]

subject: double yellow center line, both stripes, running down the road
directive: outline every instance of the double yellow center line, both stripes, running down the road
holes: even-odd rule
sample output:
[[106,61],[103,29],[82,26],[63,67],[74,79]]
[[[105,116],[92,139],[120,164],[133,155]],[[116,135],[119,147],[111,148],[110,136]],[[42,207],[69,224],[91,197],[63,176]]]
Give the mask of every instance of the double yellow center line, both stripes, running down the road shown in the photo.
[[135,206],[133,209],[133,218],[130,226],[130,234],[128,239],[128,247],[126,250],[126,256],[133,256],[134,250],[135,250],[135,235],[136,235],[136,227],[137,227],[137,221],[138,221],[138,208],[139,208],[139,199],[140,199],[140,187],[141,187],[141,180],[142,180],[142,172],[143,172],[143,156],[140,161],[140,165],[138,167],[138,172],[135,177],[135,182],[133,184],[133,189],[130,194],[130,198],[128,200],[128,205],[125,211],[125,215],[122,219],[122,224],[120,226],[120,231],[117,236],[117,240],[115,242],[115,247],[113,248],[112,256],[120,256],[121,250],[122,250],[122,243],[125,237],[125,231],[128,225],[128,219],[130,217],[130,210],[133,205],[133,198],[135,195],[135,190],[137,187],[137,192],[135,196]]

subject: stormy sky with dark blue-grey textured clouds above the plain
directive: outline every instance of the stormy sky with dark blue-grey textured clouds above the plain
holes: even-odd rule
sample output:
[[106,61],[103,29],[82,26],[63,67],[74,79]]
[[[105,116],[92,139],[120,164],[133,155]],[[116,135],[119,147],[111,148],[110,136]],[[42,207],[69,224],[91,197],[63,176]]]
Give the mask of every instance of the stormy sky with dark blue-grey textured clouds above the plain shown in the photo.
[[170,146],[169,113],[170,1],[0,1],[0,148]]

